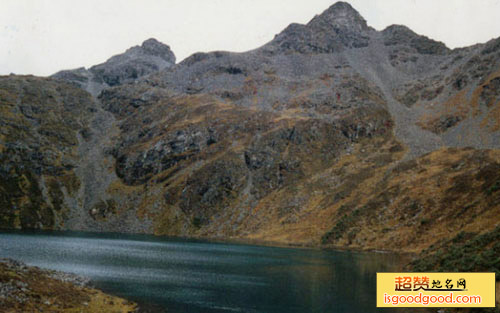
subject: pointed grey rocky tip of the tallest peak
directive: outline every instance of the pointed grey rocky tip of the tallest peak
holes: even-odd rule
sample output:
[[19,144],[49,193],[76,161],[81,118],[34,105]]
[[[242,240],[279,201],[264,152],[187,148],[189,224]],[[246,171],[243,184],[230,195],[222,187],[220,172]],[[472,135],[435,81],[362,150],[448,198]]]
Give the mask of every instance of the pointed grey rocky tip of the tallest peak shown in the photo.
[[313,28],[324,29],[330,27],[333,29],[345,28],[351,31],[367,31],[368,27],[366,20],[356,11],[349,3],[339,1],[322,14],[313,18],[308,26]]

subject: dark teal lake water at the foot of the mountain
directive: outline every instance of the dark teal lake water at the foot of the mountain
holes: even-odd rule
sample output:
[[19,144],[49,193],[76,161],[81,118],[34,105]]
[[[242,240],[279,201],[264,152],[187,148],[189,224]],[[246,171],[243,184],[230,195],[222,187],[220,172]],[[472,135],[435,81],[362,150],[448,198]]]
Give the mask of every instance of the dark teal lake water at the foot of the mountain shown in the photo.
[[387,254],[89,233],[0,233],[0,257],[90,277],[154,312],[388,312],[375,308]]

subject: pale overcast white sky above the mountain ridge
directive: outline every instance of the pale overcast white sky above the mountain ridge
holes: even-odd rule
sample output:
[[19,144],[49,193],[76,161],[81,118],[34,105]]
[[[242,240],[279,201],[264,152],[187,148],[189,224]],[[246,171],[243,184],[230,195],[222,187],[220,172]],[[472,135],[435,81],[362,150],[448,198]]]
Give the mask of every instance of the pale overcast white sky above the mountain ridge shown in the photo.
[[[0,75],[90,67],[156,38],[177,61],[195,52],[243,52],[332,0],[0,0]],[[500,0],[348,0],[382,30],[403,24],[450,48],[500,37]]]

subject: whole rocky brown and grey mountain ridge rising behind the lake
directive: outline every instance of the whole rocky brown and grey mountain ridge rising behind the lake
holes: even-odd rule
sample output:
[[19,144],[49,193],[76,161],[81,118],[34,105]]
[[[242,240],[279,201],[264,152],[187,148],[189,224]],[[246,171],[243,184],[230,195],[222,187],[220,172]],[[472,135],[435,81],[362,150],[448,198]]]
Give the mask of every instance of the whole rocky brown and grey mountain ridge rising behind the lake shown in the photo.
[[150,39],[2,77],[0,104],[3,228],[498,248],[500,38],[451,50],[338,2],[245,53]]

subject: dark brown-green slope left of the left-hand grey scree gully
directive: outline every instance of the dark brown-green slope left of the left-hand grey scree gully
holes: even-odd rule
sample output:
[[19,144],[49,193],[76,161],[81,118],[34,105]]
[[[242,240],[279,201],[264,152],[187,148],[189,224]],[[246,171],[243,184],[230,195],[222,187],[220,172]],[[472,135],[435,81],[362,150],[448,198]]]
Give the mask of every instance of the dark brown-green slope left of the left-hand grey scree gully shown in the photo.
[[[78,146],[97,106],[85,91],[37,77],[0,78],[0,226],[61,228],[78,207]],[[67,199],[67,201],[65,200]]]

